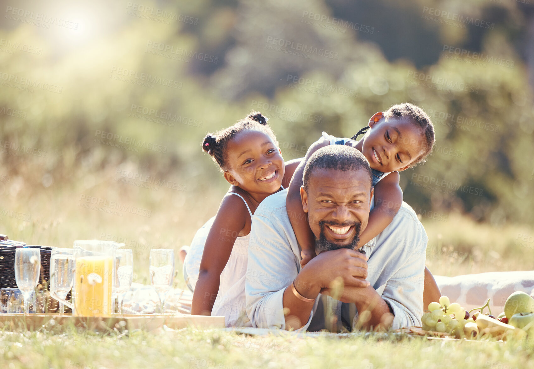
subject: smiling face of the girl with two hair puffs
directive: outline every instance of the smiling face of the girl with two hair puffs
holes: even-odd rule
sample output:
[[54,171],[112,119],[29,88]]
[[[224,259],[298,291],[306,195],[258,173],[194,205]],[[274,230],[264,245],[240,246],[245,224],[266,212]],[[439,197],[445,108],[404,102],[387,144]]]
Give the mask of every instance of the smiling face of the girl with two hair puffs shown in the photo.
[[272,194],[280,189],[285,172],[284,158],[266,133],[246,130],[226,146],[227,181],[249,193]]

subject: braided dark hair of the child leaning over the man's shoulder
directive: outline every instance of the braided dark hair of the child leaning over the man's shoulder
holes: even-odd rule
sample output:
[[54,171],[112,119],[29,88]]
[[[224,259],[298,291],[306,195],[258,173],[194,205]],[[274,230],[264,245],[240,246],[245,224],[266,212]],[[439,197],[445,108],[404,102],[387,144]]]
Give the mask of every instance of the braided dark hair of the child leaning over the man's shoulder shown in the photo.
[[[415,162],[413,162],[412,165],[418,163],[425,163],[427,161],[428,155],[430,155],[434,147],[434,125],[432,124],[430,118],[423,109],[409,102],[394,105],[388,110],[384,111],[384,118],[386,119],[396,119],[402,117],[410,119],[410,122],[418,126],[421,129],[422,135],[425,137],[426,140],[423,147],[423,153],[417,159],[415,159]],[[368,129],[369,126],[363,127],[354,136],[352,136],[352,140],[356,140],[360,134],[365,134]]]

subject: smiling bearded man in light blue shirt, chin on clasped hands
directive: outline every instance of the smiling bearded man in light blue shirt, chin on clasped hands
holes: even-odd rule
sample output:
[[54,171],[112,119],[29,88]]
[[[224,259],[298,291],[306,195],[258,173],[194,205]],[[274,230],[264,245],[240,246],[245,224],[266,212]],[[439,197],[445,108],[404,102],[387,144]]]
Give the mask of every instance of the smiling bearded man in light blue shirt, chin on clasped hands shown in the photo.
[[403,203],[386,229],[355,250],[373,204],[360,151],[327,146],[305,166],[301,198],[317,256],[304,268],[286,195],[269,196],[253,217],[246,276],[253,326],[339,332],[420,324],[428,238],[412,208]]

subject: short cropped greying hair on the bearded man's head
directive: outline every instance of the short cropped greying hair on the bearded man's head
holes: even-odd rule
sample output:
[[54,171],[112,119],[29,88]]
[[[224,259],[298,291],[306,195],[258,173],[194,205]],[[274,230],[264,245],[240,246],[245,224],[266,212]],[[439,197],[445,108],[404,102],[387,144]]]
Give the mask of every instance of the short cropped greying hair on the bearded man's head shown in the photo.
[[363,170],[369,177],[369,183],[373,186],[371,167],[369,162],[358,149],[347,145],[329,145],[321,147],[308,160],[302,176],[304,190],[308,192],[308,184],[311,175],[316,169],[335,169],[338,171]]

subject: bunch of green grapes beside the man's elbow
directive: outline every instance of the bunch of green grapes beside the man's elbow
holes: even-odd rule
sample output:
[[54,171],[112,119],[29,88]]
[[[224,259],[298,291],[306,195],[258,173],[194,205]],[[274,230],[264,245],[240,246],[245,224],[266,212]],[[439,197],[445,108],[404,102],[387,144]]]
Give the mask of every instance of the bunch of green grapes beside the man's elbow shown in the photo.
[[425,331],[436,331],[457,336],[464,332],[469,313],[459,303],[451,303],[447,296],[441,296],[439,302],[428,304],[429,312],[421,317]]

